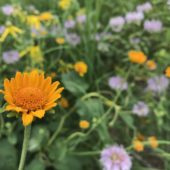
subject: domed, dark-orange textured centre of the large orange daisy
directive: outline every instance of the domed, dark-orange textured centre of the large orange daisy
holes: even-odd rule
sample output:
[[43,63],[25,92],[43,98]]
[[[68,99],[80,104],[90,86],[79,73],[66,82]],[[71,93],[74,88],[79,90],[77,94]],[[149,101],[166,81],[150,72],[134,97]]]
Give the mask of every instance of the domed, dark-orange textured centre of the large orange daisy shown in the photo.
[[27,109],[28,111],[42,109],[46,103],[43,92],[34,87],[25,87],[18,90],[14,95],[14,100],[17,106]]

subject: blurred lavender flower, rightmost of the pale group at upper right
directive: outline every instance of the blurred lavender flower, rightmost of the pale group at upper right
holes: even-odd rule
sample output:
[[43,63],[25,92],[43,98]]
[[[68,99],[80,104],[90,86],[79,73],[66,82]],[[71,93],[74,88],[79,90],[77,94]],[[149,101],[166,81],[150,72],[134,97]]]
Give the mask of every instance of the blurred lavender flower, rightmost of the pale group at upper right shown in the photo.
[[162,22],[159,20],[146,20],[144,22],[144,29],[148,32],[162,31]]

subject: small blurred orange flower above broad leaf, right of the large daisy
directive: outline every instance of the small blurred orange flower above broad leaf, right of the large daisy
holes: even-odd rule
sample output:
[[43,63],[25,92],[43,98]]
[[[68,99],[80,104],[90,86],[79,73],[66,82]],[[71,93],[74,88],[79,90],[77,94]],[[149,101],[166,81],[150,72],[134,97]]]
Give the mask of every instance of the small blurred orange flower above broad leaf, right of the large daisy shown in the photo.
[[80,76],[84,76],[85,73],[87,73],[87,64],[83,61],[78,61],[74,65],[74,70],[79,73]]

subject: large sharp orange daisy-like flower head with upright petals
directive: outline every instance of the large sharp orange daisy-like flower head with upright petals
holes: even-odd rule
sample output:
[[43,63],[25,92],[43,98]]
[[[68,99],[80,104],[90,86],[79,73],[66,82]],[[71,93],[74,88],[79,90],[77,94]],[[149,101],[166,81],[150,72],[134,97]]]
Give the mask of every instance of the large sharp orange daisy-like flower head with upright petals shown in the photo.
[[32,123],[34,117],[43,118],[45,112],[57,105],[63,87],[59,82],[52,83],[51,77],[44,77],[37,71],[17,72],[11,80],[4,81],[6,110],[21,113],[24,126]]

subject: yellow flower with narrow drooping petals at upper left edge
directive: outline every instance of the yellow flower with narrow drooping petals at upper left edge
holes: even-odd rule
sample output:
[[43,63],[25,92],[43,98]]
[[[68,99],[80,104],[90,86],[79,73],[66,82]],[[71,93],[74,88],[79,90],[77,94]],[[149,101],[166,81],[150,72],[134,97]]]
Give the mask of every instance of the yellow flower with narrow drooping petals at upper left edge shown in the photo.
[[16,38],[17,34],[21,34],[21,33],[23,33],[23,31],[19,29],[18,27],[13,26],[13,25],[7,26],[5,31],[2,33],[0,37],[0,42],[5,41],[8,35],[12,35],[14,38]]

